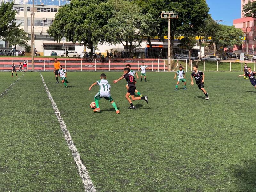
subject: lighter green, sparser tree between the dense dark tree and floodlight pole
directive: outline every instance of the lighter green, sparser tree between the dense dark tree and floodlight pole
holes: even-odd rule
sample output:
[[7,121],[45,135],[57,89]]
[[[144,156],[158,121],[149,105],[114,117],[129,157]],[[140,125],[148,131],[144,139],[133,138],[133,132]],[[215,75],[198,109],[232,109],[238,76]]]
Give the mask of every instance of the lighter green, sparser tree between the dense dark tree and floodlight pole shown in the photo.
[[104,27],[105,40],[109,44],[121,43],[132,57],[132,49],[140,46],[145,31],[155,20],[150,14],[143,15],[140,7],[129,1],[112,0],[109,3],[114,12]]

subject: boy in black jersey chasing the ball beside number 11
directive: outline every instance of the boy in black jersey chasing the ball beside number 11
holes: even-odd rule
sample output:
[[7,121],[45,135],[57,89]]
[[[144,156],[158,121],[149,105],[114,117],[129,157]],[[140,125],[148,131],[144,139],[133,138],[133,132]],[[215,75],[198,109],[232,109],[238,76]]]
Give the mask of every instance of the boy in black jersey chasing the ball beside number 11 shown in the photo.
[[136,80],[134,78],[133,75],[129,74],[130,69],[129,68],[124,68],[124,74],[122,77],[120,77],[117,80],[114,80],[113,83],[117,83],[118,81],[120,81],[121,79],[126,79],[127,84],[128,84],[128,91],[125,95],[126,99],[128,100],[128,102],[130,103],[130,107],[128,109],[135,109],[135,106],[133,105],[132,101],[130,100],[129,96],[131,95],[132,100],[145,100],[148,103],[148,97],[147,95],[142,96],[142,97],[134,97],[135,94],[135,90],[136,90]]

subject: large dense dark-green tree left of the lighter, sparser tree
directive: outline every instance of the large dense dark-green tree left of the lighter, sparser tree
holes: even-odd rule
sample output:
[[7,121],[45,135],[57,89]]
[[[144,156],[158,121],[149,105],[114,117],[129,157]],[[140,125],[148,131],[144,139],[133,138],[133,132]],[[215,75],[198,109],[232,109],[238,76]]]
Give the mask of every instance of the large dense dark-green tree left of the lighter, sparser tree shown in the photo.
[[102,27],[112,14],[112,7],[100,0],[72,0],[70,4],[61,7],[55,15],[49,33],[55,41],[79,42],[91,49],[93,45],[104,42]]

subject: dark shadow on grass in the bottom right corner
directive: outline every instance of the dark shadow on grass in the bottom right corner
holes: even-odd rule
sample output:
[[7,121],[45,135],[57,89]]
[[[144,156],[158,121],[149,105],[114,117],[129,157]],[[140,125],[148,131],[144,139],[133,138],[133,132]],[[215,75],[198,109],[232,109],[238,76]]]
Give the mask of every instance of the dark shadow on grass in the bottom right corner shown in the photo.
[[256,161],[247,160],[244,164],[236,166],[234,176],[238,179],[238,191],[256,190]]

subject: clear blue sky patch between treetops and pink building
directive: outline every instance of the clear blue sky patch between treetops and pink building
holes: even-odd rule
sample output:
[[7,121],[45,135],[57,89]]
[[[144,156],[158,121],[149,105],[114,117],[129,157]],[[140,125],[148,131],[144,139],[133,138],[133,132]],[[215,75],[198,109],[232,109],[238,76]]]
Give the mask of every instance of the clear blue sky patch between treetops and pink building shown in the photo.
[[233,25],[233,20],[241,17],[241,0],[206,0],[214,20],[221,24]]

